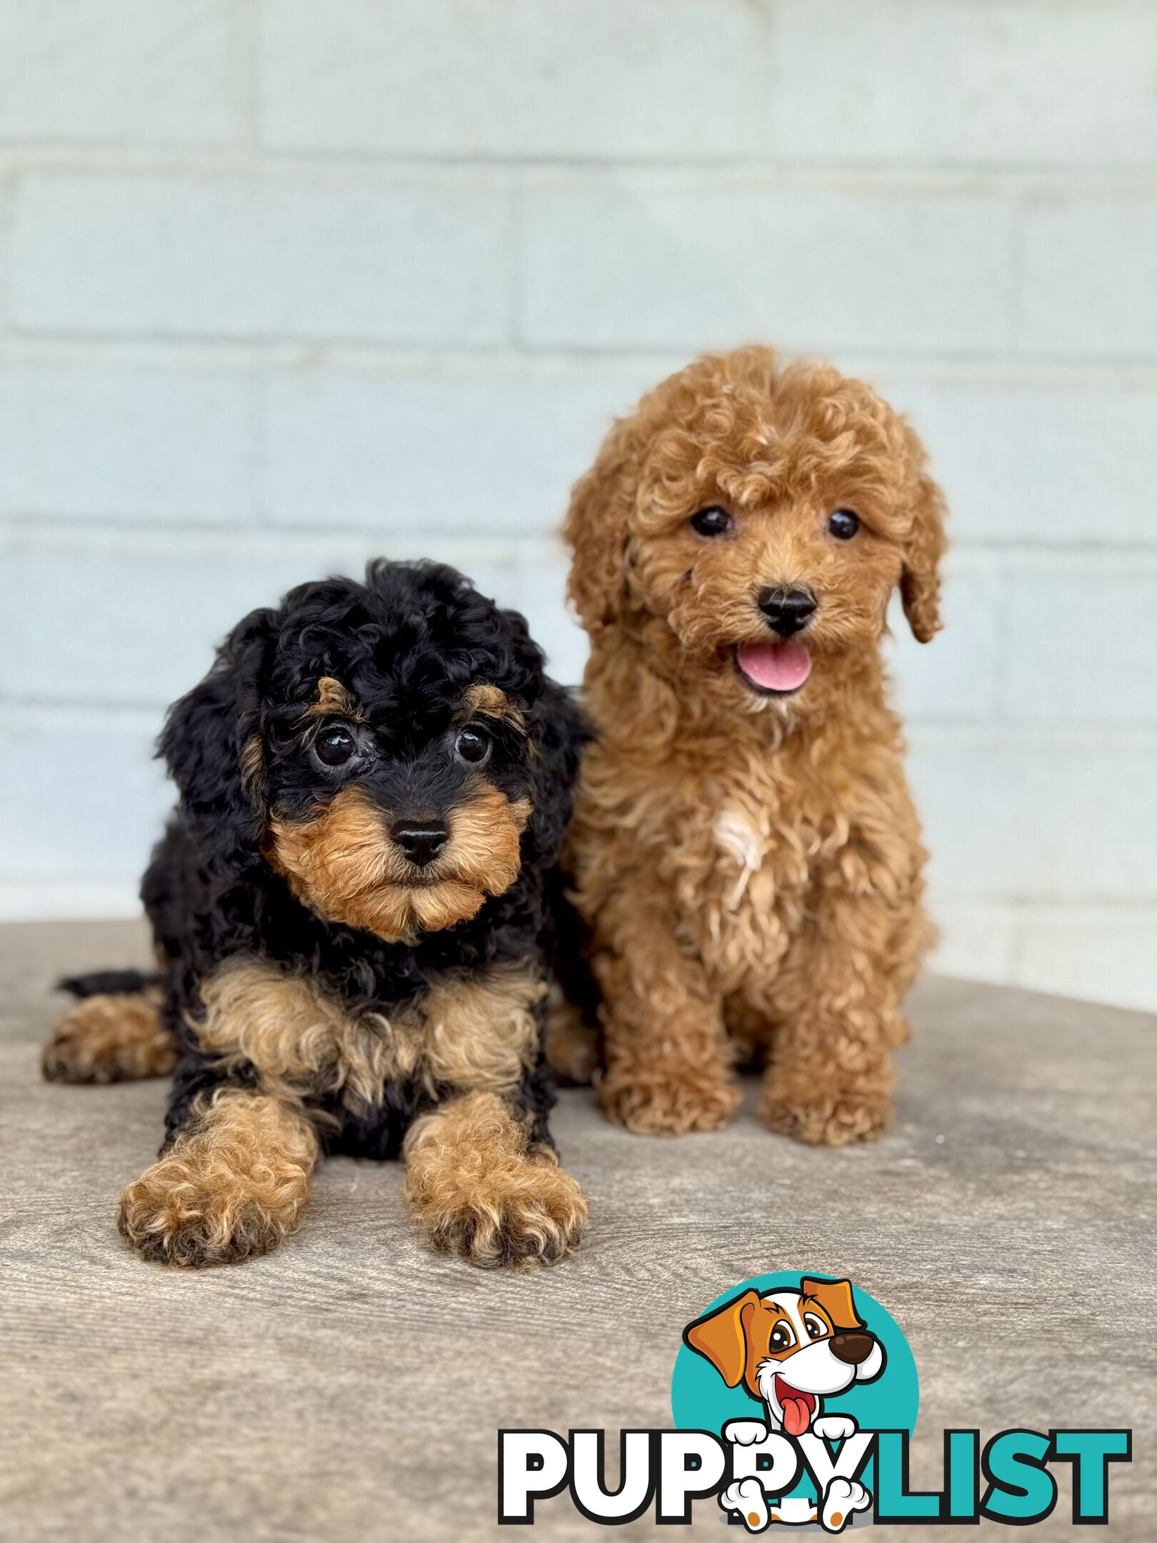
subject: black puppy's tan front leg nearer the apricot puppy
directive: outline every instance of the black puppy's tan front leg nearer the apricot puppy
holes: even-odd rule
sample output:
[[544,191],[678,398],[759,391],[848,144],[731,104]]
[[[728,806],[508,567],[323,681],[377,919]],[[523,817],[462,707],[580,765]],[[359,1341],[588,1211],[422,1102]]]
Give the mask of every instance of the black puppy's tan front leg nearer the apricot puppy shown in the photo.
[[467,1092],[406,1136],[406,1204],[437,1248],[478,1265],[552,1264],[586,1227],[586,1196],[497,1092]]

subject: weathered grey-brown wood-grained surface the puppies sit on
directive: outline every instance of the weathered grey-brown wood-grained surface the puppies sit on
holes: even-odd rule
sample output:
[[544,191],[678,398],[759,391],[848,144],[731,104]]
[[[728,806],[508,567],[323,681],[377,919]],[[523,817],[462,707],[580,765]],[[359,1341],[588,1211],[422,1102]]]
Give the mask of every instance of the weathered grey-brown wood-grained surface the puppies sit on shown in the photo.
[[[341,1159],[281,1253],[182,1275],[111,1219],[164,1085],[37,1072],[52,978],[145,957],[130,924],[0,929],[0,1538],[509,1537],[500,1426],[670,1424],[683,1324],[779,1268],[848,1275],[907,1333],[913,1481],[938,1487],[944,1426],[1129,1424],[1108,1532],[1157,1535],[1152,1018],[927,980],[876,1146],[793,1145],[751,1099],[717,1136],[643,1140],[571,1091],[555,1133],[592,1227],[551,1271],[430,1253],[400,1170]],[[562,1498],[538,1515],[545,1538],[603,1534]],[[1071,1535],[1068,1515],[1061,1475],[1029,1535]],[[700,1504],[693,1531],[720,1524]]]

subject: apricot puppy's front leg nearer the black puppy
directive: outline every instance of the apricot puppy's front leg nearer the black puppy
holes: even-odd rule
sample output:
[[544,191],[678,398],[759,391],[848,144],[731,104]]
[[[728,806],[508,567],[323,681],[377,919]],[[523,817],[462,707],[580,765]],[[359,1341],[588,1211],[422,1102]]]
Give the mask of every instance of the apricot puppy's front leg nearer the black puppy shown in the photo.
[[739,1105],[719,994],[674,938],[670,909],[631,906],[629,887],[600,917],[592,967],[603,994],[603,1108],[640,1136],[716,1131]]

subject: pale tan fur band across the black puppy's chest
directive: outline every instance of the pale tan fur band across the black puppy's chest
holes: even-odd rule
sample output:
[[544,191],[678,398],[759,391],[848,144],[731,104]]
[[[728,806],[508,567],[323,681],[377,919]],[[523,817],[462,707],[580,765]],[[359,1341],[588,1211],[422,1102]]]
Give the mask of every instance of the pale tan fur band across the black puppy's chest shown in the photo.
[[248,1062],[264,1091],[288,1102],[339,1094],[347,1108],[383,1102],[389,1082],[512,1091],[538,1051],[545,984],[521,966],[447,975],[396,1014],[350,1012],[309,977],[256,960],[202,986],[201,1048]]

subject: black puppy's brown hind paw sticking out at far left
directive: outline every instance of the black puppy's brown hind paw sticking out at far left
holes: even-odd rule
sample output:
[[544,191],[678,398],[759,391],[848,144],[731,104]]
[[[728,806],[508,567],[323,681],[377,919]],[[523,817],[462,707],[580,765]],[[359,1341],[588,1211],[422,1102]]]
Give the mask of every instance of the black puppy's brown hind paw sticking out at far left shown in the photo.
[[40,1066],[46,1082],[134,1082],[167,1077],[177,1042],[151,995],[85,997],[57,1021]]

